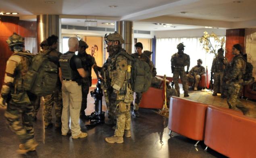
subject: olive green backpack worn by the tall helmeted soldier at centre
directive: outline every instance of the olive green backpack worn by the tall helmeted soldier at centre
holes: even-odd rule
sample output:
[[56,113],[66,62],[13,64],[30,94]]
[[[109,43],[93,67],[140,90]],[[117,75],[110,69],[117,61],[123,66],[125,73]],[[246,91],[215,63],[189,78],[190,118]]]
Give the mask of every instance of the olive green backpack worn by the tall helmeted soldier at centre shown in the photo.
[[123,55],[128,59],[128,73],[131,74],[130,82],[133,92],[146,92],[151,85],[152,73],[147,62],[132,57],[126,52],[117,53],[115,60],[119,55]]

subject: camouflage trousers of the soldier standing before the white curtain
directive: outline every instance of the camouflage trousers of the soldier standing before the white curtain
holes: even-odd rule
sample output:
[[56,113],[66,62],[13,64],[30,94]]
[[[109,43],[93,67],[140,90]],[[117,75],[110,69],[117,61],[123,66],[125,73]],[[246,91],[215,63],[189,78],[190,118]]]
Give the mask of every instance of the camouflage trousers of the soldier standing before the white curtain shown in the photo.
[[177,90],[178,96],[180,94],[180,92],[179,92],[179,76],[181,77],[184,94],[188,94],[187,75],[186,75],[184,68],[174,68],[173,82],[174,82],[175,89]]

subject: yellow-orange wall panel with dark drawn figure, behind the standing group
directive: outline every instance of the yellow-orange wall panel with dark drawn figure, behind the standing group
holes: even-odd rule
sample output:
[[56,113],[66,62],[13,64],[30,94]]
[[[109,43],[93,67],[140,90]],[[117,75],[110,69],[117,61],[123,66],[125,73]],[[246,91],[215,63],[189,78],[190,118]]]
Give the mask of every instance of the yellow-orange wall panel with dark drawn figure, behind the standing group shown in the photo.
[[[103,39],[102,38],[103,37],[97,37],[97,36],[83,36],[83,41],[85,41],[89,46],[86,49],[86,52],[90,55],[94,53],[93,56],[98,66],[102,66],[102,55],[103,55],[103,43],[102,43]],[[92,70],[92,78],[97,78],[94,70]]]

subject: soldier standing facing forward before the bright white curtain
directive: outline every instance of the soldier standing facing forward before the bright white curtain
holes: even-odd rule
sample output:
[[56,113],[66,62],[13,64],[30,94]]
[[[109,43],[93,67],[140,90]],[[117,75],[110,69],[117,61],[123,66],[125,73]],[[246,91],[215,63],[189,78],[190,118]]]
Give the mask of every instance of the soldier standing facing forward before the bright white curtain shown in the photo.
[[[184,97],[189,96],[188,94],[188,85],[187,85],[187,76],[189,66],[190,66],[190,57],[185,54],[183,43],[179,43],[177,45],[178,53],[175,53],[171,57],[171,70],[173,73],[173,82],[175,85],[175,89],[177,90],[178,96],[180,96],[179,92],[179,76],[181,77],[182,87],[184,90]],[[184,68],[187,66],[187,71],[185,72]]]

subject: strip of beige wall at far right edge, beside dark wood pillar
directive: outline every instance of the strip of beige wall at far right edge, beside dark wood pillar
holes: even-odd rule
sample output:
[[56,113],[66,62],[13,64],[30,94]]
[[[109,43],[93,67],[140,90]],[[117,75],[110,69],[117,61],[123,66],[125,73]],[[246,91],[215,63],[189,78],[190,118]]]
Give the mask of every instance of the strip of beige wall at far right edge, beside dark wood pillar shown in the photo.
[[245,31],[245,52],[248,62],[252,63],[252,75],[256,78],[256,29],[246,29]]

